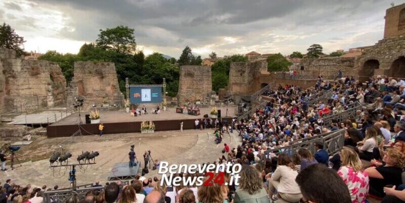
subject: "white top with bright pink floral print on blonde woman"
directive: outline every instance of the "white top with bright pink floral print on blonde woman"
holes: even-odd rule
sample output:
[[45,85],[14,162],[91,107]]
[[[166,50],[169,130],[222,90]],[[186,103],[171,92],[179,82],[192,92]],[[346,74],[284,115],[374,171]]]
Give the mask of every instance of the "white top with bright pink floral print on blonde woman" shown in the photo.
[[366,197],[369,193],[369,175],[365,171],[355,172],[349,166],[342,166],[338,171],[338,175],[349,188],[353,203],[366,202]]

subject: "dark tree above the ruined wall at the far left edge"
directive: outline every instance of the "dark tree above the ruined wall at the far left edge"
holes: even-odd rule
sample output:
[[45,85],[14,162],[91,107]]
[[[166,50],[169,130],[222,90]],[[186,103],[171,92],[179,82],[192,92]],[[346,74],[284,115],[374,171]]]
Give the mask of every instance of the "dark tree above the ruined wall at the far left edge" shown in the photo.
[[17,56],[24,54],[24,37],[15,33],[15,30],[10,25],[3,23],[0,26],[0,47],[13,49],[16,51]]

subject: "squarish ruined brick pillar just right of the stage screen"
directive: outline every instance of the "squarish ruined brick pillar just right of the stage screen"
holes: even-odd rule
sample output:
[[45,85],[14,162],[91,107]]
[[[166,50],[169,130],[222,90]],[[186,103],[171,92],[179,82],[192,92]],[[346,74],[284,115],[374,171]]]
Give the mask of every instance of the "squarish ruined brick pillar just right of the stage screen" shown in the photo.
[[209,102],[212,90],[210,66],[180,67],[178,104],[194,103],[196,100]]

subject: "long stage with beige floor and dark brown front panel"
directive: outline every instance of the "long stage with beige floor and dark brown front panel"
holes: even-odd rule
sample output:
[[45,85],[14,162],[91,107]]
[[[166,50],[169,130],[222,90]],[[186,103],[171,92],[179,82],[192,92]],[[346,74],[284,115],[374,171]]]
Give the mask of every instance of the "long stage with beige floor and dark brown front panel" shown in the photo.
[[[143,121],[152,121],[155,124],[155,133],[158,131],[180,130],[180,123],[183,122],[183,130],[194,129],[195,119],[204,119],[205,114],[209,114],[211,108],[200,108],[200,115],[193,116],[188,114],[176,113],[176,108],[168,108],[167,111],[161,111],[160,114],[151,113],[137,117],[131,117],[130,113],[125,110],[100,112],[100,122],[104,125],[104,134],[119,134],[119,133],[140,133],[141,123]],[[235,107],[228,107],[228,117],[226,117],[226,107],[217,108],[221,110],[221,118],[218,118],[222,123],[230,124],[231,118],[235,117]],[[86,122],[85,115],[88,112],[81,112],[80,118]],[[99,134],[99,124],[79,124],[78,114],[74,113],[62,120],[47,126],[48,137],[68,137],[72,134],[77,134],[80,130],[82,135],[97,135]],[[207,118],[208,119],[208,118]],[[215,120],[216,118],[212,118]],[[147,134],[146,134],[147,135]]]

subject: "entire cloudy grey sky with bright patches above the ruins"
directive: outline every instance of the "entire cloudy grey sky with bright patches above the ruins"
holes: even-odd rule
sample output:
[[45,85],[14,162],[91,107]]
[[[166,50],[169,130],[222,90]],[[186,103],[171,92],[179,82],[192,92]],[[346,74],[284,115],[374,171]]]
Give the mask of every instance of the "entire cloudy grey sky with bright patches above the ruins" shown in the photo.
[[258,53],[325,53],[382,39],[385,10],[398,0],[0,0],[0,22],[26,50],[77,53],[100,29],[135,29],[138,49],[178,58],[186,45],[207,57]]

